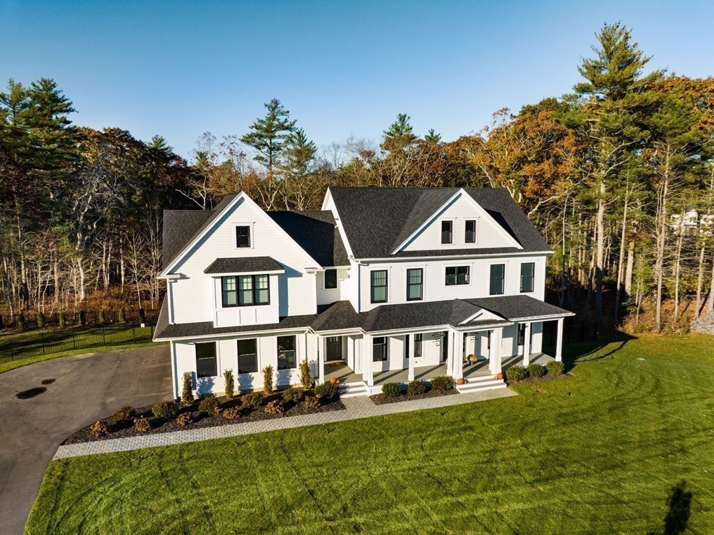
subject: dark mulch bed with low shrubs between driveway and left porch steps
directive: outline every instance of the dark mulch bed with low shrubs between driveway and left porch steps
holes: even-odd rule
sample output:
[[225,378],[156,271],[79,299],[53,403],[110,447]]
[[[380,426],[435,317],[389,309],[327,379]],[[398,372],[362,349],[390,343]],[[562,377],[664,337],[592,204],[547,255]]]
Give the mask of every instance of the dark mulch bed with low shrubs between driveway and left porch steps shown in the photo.
[[[216,427],[216,426],[228,426],[228,425],[233,425],[233,424],[245,424],[248,421],[260,421],[260,420],[272,420],[276,418],[289,418],[291,416],[301,416],[303,414],[316,414],[318,412],[330,412],[330,411],[341,411],[345,409],[345,406],[342,404],[342,401],[339,399],[321,399],[321,404],[318,406],[317,409],[306,409],[305,405],[303,404],[303,401],[298,401],[298,402],[284,402],[285,406],[285,411],[282,414],[267,414],[265,412],[265,405],[269,401],[275,401],[275,400],[280,400],[283,401],[283,393],[282,392],[276,392],[275,394],[271,394],[271,396],[267,396],[265,399],[263,399],[263,404],[259,407],[253,408],[249,406],[243,406],[243,396],[246,394],[242,394],[239,396],[235,396],[232,399],[228,399],[226,397],[220,397],[218,398],[218,401],[220,402],[221,409],[228,409],[230,407],[239,407],[241,411],[241,417],[238,419],[234,420],[227,420],[224,419],[223,416],[220,414],[211,414],[211,415],[206,415],[201,412],[198,412],[198,402],[200,400],[193,401],[192,404],[188,406],[180,406],[178,409],[178,414],[183,414],[185,412],[191,412],[191,415],[193,416],[193,423],[188,424],[186,426],[180,426],[176,423],[176,417],[174,418],[169,418],[169,419],[163,419],[163,418],[156,418],[154,414],[151,412],[151,406],[145,406],[145,407],[139,407],[136,408],[136,416],[145,416],[146,418],[149,419],[149,422],[151,423],[151,430],[146,431],[144,433],[141,433],[139,431],[136,431],[134,429],[134,421],[131,419],[130,421],[124,422],[124,423],[117,423],[114,420],[114,416],[110,416],[109,418],[105,418],[101,420],[108,428],[109,428],[109,434],[106,434],[104,436],[99,437],[99,439],[95,439],[94,436],[91,436],[91,433],[89,432],[89,428],[91,426],[86,426],[84,429],[80,429],[79,431],[76,431],[76,433],[72,434],[67,438],[62,444],[79,444],[81,442],[93,442],[97,440],[111,440],[111,439],[125,439],[130,436],[141,436],[141,435],[150,435],[150,434],[157,434],[157,433],[171,433],[173,431],[188,431],[190,429],[203,429],[206,427]],[[306,393],[308,396],[312,396],[312,392]],[[119,407],[117,407],[119,408]]]

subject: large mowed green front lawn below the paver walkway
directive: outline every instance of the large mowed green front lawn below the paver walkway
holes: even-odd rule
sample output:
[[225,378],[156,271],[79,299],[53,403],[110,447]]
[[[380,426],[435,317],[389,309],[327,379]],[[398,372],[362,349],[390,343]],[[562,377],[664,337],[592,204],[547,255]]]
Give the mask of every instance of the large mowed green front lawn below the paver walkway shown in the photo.
[[53,461],[26,533],[714,533],[714,337],[566,357],[507,399]]

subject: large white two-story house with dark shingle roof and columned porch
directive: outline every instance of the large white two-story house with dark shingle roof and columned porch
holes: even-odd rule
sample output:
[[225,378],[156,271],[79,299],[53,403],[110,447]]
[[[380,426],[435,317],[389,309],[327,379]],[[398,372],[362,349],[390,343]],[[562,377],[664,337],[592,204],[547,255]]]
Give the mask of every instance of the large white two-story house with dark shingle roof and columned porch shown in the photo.
[[154,339],[171,345],[176,396],[185,372],[199,395],[223,391],[224,369],[261,389],[268,364],[298,384],[303,359],[343,395],[436,375],[500,388],[506,366],[561,359],[573,314],[544,302],[552,252],[503,189],[331,187],[320,211],[263,211],[241,192],[164,212]]

